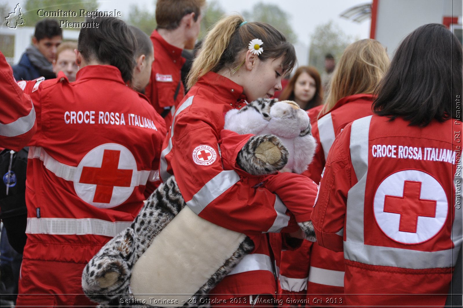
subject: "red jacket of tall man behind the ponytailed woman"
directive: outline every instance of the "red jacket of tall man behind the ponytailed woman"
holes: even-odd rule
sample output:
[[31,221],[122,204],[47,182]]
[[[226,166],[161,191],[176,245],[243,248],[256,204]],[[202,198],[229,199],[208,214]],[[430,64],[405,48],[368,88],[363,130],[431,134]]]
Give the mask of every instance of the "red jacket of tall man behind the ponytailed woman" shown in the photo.
[[[181,56],[181,49],[170,45],[156,30],[151,33],[154,46],[154,62],[151,67],[150,83],[145,93],[157,113],[162,114],[164,108],[177,107],[185,96],[185,88],[181,82],[181,67],[186,59]],[[175,101],[174,96],[178,88]],[[172,111],[174,111],[172,109]],[[170,127],[172,114],[164,117],[166,127]]]

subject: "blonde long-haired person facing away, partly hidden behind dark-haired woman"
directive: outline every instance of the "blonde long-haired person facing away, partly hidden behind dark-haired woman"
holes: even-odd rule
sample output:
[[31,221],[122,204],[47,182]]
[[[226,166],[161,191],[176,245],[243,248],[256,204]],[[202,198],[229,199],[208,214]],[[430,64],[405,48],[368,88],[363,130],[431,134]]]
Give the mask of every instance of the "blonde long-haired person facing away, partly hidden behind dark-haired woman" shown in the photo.
[[[319,144],[317,153],[304,174],[315,182],[320,181],[325,167],[325,157],[336,135],[349,122],[373,114],[371,109],[374,101],[373,92],[388,67],[388,54],[378,41],[362,39],[347,46],[333,72],[330,92],[320,111],[319,119],[312,124],[313,136]],[[311,299],[317,295],[331,294],[333,301],[321,305],[342,306],[343,254],[323,248],[317,242],[313,243],[310,250],[310,245],[311,243],[305,241],[301,249],[285,251],[282,257],[284,277],[280,277],[280,280],[285,282],[286,290],[295,294],[293,296],[300,297],[301,293],[307,292],[306,299]],[[307,264],[309,257],[310,264]],[[305,262],[307,266],[299,265],[292,271],[291,269],[295,267],[291,266],[290,262],[297,264]]]

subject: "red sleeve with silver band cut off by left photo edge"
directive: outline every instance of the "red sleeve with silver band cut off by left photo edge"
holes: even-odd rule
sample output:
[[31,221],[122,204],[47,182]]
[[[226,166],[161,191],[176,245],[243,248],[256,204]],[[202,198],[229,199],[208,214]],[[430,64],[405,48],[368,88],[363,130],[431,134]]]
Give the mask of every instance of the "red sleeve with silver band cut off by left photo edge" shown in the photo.
[[23,148],[37,130],[31,97],[13,78],[13,71],[0,52],[0,147]]

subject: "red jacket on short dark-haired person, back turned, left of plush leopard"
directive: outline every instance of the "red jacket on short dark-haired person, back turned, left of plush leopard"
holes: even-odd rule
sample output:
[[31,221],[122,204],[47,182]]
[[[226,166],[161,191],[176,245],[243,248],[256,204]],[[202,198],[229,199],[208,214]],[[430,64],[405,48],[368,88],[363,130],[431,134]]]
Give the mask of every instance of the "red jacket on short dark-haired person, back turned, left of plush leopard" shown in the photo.
[[[22,268],[27,278],[19,292],[82,293],[83,266],[130,226],[154,190],[164,122],[113,66],[85,66],[74,83],[61,72],[56,79],[27,83],[38,130],[29,143]],[[47,262],[69,264],[78,280],[54,280],[53,263]],[[34,277],[54,291],[36,289]]]

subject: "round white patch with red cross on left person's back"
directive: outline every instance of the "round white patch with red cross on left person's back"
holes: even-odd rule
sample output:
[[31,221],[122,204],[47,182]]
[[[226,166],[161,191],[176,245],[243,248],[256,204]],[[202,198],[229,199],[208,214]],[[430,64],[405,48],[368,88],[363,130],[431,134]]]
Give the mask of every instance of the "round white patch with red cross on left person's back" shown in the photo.
[[105,143],[82,158],[75,171],[74,189],[88,204],[111,208],[130,197],[137,173],[137,162],[128,148]]

